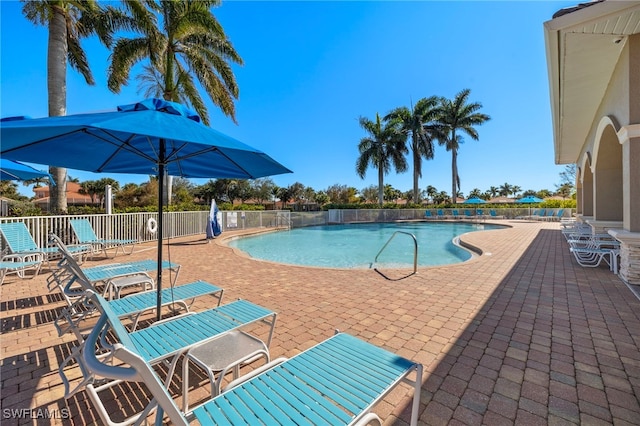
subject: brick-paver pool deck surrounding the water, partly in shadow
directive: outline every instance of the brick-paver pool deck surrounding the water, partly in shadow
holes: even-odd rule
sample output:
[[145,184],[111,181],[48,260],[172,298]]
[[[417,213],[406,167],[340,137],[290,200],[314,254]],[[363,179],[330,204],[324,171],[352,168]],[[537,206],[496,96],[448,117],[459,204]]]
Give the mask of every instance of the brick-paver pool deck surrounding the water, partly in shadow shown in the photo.
[[[224,287],[223,302],[276,311],[273,358],[339,329],[421,362],[420,424],[639,424],[640,300],[606,266],[579,266],[557,223],[504,223],[512,228],[462,237],[481,256],[406,278],[255,261],[204,235],[172,240],[170,260],[182,265],[179,283],[203,279]],[[154,258],[154,247],[87,266]],[[48,292],[47,276],[10,275],[0,288],[0,423],[34,424],[8,411],[31,408],[71,415],[38,424],[101,424],[85,392],[63,398],[57,368],[74,339],[56,333],[64,303]],[[401,385],[374,411],[385,424],[407,424],[410,395]],[[139,405],[127,391],[112,403]]]

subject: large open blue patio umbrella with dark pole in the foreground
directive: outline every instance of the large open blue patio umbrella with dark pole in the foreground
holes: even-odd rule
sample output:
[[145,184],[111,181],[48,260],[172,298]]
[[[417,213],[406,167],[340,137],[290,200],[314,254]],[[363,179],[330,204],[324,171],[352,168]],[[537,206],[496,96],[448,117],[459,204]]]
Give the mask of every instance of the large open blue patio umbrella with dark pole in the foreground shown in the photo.
[[[97,173],[255,179],[291,173],[262,151],[203,125],[183,105],[147,99],[117,111],[0,123],[0,156]],[[162,289],[162,214],[158,220],[158,318]]]

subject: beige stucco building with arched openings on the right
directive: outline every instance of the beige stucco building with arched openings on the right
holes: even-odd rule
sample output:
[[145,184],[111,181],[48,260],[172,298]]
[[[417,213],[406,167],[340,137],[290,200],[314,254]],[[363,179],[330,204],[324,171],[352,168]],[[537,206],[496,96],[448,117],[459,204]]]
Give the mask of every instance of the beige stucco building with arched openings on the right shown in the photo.
[[640,284],[640,1],[594,1],[544,23],[555,161],[577,165],[577,213],[621,243]]

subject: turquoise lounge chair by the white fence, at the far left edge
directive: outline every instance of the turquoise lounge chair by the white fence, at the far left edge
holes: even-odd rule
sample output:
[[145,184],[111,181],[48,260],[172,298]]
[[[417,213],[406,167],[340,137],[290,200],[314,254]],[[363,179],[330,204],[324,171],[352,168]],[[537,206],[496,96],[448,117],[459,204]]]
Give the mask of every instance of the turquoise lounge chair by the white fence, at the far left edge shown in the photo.
[[[36,254],[40,256],[41,261],[49,263],[50,257],[61,256],[57,247],[38,247],[24,222],[0,223],[0,234],[7,244],[9,254],[13,255],[15,260],[35,261]],[[67,249],[72,256],[80,258],[91,252],[91,247],[84,244],[67,246]]]

